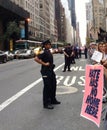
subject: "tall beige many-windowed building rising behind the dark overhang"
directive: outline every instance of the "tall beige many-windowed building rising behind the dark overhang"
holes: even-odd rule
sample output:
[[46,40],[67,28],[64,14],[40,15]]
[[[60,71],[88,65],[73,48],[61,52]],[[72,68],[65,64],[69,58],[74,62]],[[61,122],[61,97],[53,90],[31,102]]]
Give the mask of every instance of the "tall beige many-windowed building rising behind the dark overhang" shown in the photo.
[[[11,0],[30,13],[28,38],[34,40],[54,39],[54,0]],[[20,27],[23,29],[23,22]]]

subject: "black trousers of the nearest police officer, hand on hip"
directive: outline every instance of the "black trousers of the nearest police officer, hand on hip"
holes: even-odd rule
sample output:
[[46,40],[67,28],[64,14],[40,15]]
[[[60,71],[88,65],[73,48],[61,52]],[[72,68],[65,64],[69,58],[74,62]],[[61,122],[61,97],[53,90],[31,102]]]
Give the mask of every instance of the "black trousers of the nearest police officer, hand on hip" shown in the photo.
[[56,75],[53,70],[41,70],[43,78],[43,106],[56,101]]

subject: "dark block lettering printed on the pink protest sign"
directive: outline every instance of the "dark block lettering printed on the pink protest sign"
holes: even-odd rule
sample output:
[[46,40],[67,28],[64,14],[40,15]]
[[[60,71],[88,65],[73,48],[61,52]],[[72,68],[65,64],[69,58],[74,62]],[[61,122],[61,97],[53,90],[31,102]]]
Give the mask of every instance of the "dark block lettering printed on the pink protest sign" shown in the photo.
[[99,110],[99,103],[100,99],[96,98],[98,94],[98,81],[99,81],[99,75],[100,75],[99,69],[91,69],[89,73],[90,83],[89,86],[91,87],[90,95],[87,96],[86,99],[86,109],[85,113],[98,118],[98,110]]

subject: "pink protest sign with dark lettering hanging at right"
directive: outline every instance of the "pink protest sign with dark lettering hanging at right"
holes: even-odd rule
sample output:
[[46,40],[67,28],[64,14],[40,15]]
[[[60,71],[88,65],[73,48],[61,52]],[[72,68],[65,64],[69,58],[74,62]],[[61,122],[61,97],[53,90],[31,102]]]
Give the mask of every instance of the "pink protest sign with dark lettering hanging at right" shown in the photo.
[[81,116],[100,126],[103,97],[103,66],[86,65],[85,92]]

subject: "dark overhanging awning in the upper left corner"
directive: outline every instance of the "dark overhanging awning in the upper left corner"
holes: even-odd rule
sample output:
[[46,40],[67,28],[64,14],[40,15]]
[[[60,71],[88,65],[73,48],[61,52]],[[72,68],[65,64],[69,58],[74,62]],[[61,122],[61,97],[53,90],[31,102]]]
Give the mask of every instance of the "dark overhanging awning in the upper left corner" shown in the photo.
[[10,0],[0,0],[0,17],[6,20],[25,20],[30,14]]

